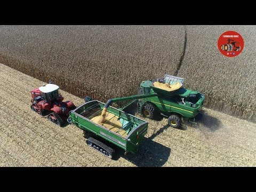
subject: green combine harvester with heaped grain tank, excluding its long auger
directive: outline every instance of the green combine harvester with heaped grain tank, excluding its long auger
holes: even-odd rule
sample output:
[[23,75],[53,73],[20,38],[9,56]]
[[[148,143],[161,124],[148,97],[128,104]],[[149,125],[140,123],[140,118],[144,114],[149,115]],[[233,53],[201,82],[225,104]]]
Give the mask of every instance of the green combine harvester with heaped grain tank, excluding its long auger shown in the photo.
[[183,88],[183,81],[184,78],[171,75],[143,81],[140,94],[150,97],[139,99],[138,113],[150,119],[163,115],[168,118],[171,127],[180,127],[181,118],[194,122],[205,98],[197,91]]

